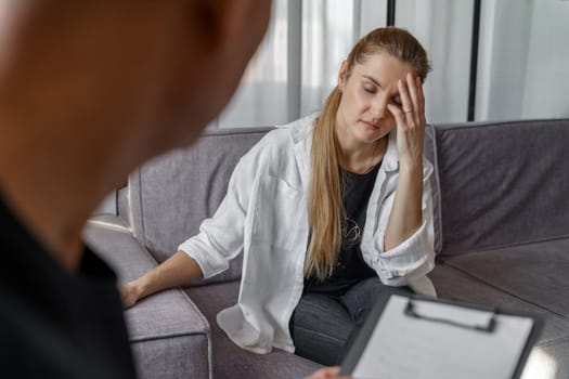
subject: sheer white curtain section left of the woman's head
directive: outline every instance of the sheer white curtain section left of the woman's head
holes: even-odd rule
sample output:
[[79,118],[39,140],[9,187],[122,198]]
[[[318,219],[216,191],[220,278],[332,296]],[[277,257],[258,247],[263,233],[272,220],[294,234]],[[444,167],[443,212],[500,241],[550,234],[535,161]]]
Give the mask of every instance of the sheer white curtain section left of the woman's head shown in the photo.
[[[360,36],[354,29],[360,2],[274,0],[267,36],[211,127],[283,125],[320,109]],[[385,17],[377,18],[382,25]]]

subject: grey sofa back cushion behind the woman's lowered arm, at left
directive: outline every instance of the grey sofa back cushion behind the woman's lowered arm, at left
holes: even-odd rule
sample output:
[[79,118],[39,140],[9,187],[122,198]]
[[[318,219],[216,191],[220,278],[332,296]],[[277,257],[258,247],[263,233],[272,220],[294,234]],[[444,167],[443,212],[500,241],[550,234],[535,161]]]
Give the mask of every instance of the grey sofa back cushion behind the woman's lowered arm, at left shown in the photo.
[[[227,193],[240,158],[271,128],[210,131],[195,145],[157,157],[129,177],[128,220],[158,262],[199,231]],[[119,210],[125,211],[119,207]],[[199,284],[238,278],[242,256],[230,269]]]

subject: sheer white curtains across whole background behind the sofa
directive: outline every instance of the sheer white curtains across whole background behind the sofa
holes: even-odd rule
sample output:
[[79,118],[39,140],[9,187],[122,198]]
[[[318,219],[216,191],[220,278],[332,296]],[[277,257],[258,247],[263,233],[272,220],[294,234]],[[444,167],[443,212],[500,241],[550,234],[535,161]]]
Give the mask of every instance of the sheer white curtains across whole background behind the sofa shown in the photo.
[[[353,43],[386,25],[387,0],[274,0],[268,34],[211,128],[274,126],[320,109]],[[397,0],[396,25],[434,70],[427,120],[466,121],[474,0]],[[569,117],[569,1],[483,0],[476,120]]]

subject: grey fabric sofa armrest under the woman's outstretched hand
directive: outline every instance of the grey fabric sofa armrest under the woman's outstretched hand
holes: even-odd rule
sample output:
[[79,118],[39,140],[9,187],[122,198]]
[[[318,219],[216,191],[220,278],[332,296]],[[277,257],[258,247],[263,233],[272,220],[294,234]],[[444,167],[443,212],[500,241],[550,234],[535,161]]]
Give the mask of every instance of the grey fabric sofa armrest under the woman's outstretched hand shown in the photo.
[[[156,266],[148,251],[114,214],[89,220],[83,240],[115,270],[119,283]],[[211,336],[208,322],[180,289],[141,300],[125,312],[140,378],[210,378]]]

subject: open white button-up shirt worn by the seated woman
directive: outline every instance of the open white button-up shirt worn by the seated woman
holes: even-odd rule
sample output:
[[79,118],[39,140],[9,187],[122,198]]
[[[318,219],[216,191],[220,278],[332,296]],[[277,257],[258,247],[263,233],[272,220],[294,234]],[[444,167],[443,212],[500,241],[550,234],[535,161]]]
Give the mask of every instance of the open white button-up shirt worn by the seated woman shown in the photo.
[[[221,311],[217,321],[233,342],[255,353],[269,353],[272,347],[295,351],[288,322],[303,287],[310,148],[316,116],[267,133],[238,161],[214,217],[179,247],[196,260],[205,278],[223,272],[231,259],[244,253],[238,301]],[[435,266],[428,181],[432,165],[426,159],[423,224],[398,247],[383,249],[399,174],[395,130],[388,141],[367,206],[362,256],[384,284],[409,285],[435,296],[425,276]]]

